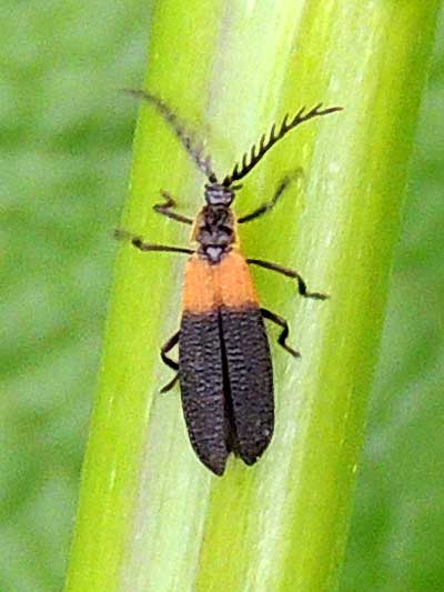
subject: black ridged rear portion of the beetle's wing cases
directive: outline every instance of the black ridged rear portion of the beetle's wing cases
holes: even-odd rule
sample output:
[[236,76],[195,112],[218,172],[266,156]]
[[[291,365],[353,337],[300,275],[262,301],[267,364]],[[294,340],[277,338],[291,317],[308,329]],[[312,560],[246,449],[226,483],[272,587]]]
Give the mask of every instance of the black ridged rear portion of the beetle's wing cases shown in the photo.
[[191,444],[215,474],[230,452],[253,464],[274,427],[273,372],[259,308],[184,312],[179,380]]

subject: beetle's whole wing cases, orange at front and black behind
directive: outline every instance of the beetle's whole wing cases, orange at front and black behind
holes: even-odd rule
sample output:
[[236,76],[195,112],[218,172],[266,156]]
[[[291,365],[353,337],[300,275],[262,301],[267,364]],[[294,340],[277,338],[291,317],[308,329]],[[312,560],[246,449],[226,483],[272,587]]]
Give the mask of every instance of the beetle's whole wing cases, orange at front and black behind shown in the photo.
[[250,270],[236,251],[186,264],[179,377],[190,440],[222,474],[234,452],[253,464],[273,433],[270,347]]

